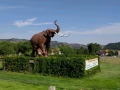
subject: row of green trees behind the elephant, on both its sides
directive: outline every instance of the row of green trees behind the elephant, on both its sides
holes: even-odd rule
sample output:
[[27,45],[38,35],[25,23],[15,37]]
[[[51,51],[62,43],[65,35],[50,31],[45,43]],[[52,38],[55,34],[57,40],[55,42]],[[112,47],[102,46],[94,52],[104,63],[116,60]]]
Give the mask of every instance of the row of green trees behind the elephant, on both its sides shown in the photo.
[[[56,46],[55,48],[49,49],[49,54],[54,51],[54,54],[82,54],[82,55],[95,55],[96,51],[100,50],[101,46],[97,43],[90,43],[87,45],[87,48],[79,47],[79,48],[72,48],[69,45],[60,45]],[[30,56],[32,52],[32,47],[29,41],[25,42],[8,42],[2,41],[0,42],[0,55],[28,55]]]

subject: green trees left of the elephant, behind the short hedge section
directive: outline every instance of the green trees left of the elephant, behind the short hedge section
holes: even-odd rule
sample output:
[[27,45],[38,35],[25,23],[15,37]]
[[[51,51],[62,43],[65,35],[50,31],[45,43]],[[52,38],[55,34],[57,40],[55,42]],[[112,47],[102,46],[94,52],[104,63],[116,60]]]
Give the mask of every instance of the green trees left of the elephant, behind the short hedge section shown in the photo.
[[0,55],[16,55],[19,53],[30,54],[31,45],[29,41],[25,42],[0,42]]

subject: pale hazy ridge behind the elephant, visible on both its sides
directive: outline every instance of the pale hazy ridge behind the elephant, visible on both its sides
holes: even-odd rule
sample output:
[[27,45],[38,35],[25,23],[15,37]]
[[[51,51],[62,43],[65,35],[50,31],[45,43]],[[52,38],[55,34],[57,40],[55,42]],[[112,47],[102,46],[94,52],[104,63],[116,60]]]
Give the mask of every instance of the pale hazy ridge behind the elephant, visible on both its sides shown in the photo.
[[[17,39],[17,38],[11,38],[11,39],[0,39],[0,41],[9,41],[9,42],[25,42],[25,41],[29,41],[27,39]],[[67,43],[67,42],[58,42],[58,41],[51,41],[50,46],[52,48],[57,47],[57,46],[61,46],[61,45],[69,45],[72,48],[80,48],[80,47],[84,47],[87,48],[86,45],[83,44],[77,44],[77,43]]]

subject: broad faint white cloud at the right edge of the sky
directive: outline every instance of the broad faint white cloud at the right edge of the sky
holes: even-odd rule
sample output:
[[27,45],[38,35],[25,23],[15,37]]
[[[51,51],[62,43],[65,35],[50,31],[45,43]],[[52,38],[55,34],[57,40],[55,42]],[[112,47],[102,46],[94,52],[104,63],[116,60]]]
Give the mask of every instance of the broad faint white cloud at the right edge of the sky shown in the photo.
[[120,34],[120,23],[110,23],[108,26],[88,31],[72,31],[75,34]]

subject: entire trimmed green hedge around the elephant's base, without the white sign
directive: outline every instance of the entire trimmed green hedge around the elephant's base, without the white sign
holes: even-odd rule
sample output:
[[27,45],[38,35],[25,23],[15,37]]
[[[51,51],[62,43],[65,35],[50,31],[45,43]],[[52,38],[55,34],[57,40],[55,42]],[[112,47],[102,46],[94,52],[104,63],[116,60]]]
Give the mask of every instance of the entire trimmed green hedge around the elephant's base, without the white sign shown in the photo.
[[[100,65],[95,66],[89,70],[85,70],[85,60],[96,58],[96,56],[75,56],[75,57],[4,57],[3,68],[8,71],[25,72],[31,71],[30,67],[33,65],[32,72],[40,73],[41,75],[62,76],[81,78],[90,76],[100,71]],[[29,60],[34,61],[32,63]]]

